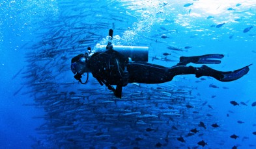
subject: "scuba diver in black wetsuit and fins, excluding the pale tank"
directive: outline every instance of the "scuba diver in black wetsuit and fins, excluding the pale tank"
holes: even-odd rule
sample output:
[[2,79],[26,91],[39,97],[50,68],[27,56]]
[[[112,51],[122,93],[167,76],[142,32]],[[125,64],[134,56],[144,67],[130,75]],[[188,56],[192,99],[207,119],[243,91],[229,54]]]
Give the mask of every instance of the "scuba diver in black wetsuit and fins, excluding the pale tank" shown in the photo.
[[[109,36],[113,37],[113,30],[109,30]],[[143,84],[160,84],[173,80],[177,75],[195,74],[197,78],[201,76],[211,76],[221,82],[231,82],[246,75],[249,66],[237,69],[235,71],[217,71],[206,65],[201,67],[186,66],[188,63],[196,64],[212,64],[220,63],[223,54],[206,54],[202,56],[180,57],[180,62],[173,67],[163,67],[148,62],[135,61],[132,62],[128,56],[124,56],[120,52],[115,51],[115,47],[108,42],[105,52],[91,52],[88,47],[85,54],[79,54],[71,60],[71,70],[75,74],[74,78],[79,80],[81,84],[86,84],[89,78],[89,72],[98,80],[101,86],[104,84],[115,94],[115,97],[122,97],[122,87],[128,83]],[[81,81],[81,77],[87,73],[85,83]],[[116,85],[116,89],[113,87]]]

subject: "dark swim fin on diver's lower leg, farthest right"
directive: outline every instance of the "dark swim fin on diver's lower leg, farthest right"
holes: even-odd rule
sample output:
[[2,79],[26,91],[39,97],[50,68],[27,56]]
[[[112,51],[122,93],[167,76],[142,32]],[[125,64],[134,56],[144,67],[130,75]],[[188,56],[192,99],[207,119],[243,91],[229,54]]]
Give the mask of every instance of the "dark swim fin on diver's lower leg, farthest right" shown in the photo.
[[249,71],[250,65],[247,65],[246,67],[237,69],[235,71],[225,71],[225,72],[216,71],[206,65],[202,65],[202,67],[197,68],[197,72],[195,73],[195,76],[197,78],[201,76],[212,76],[213,78],[216,78],[216,80],[219,80],[221,82],[230,82],[233,80],[237,80],[238,78],[241,78],[242,76],[246,75]]

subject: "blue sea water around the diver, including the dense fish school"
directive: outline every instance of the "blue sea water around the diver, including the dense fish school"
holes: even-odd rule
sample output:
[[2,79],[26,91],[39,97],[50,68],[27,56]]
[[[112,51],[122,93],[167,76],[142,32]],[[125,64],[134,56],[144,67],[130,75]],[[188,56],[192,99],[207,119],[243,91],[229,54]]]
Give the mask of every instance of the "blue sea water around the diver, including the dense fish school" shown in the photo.
[[[1,1],[0,10],[0,148],[203,148],[202,140],[204,148],[256,148],[255,1]],[[81,85],[70,71],[71,58],[106,43],[109,29],[114,44],[147,46],[149,62],[166,67],[210,53],[225,55],[209,65],[220,71],[254,64],[234,82],[175,76],[129,84],[117,99],[91,75]]]

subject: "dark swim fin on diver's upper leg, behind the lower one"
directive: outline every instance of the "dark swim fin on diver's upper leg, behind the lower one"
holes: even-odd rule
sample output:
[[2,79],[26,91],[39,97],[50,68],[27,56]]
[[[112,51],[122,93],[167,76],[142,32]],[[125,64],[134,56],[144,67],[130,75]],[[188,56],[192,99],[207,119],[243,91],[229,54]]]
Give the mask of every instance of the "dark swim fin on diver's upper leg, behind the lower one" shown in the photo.
[[188,63],[197,63],[197,64],[212,64],[212,63],[221,63],[220,60],[212,59],[221,59],[223,54],[205,54],[202,56],[181,56],[180,62],[177,65],[187,65]]

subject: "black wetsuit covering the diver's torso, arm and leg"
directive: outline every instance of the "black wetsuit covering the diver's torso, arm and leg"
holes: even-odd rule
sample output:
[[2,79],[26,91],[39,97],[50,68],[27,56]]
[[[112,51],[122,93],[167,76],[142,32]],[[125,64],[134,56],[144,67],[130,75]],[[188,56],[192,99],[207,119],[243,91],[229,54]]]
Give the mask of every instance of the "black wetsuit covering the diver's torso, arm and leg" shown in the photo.
[[[147,62],[128,62],[121,53],[109,50],[94,53],[88,63],[92,76],[121,98],[122,86],[137,82],[143,84],[160,84],[169,82],[176,75],[195,74],[195,67],[163,67]],[[127,71],[126,71],[127,69]],[[111,85],[117,85],[114,89]]]

